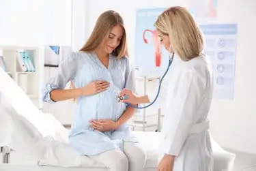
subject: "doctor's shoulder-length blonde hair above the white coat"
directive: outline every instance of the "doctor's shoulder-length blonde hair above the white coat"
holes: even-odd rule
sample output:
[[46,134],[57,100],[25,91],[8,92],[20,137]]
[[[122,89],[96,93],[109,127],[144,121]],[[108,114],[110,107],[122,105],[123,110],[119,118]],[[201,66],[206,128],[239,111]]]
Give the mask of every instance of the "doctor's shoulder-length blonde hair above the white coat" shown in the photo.
[[158,16],[155,27],[169,37],[174,52],[183,61],[201,55],[204,48],[203,33],[197,22],[184,7],[170,7]]

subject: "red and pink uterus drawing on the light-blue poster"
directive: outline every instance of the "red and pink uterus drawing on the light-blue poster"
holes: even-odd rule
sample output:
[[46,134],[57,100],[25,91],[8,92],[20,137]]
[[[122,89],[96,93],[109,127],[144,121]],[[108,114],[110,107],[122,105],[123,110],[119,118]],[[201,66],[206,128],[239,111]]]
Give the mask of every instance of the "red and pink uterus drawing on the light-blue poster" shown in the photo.
[[161,44],[160,41],[158,39],[158,33],[157,30],[150,30],[150,29],[145,29],[143,31],[143,41],[145,42],[145,44],[149,44],[150,42],[148,41],[148,39],[145,37],[146,33],[150,32],[151,36],[152,36],[152,40],[153,40],[153,44],[154,44],[154,58],[155,58],[155,65],[156,67],[160,67],[161,65],[161,60],[162,60],[162,50],[161,50]]

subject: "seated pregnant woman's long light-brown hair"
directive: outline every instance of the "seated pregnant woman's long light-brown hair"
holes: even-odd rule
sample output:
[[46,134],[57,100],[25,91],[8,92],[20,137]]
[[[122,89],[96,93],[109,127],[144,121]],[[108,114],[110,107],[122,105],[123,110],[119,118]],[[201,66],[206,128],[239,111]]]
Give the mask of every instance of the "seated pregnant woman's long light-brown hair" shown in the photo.
[[[121,26],[124,29],[124,35],[119,46],[117,46],[117,48],[113,50],[112,55],[117,58],[122,58],[125,56],[128,57],[127,37],[126,29],[124,28],[124,20],[118,12],[115,12],[113,10],[108,10],[100,14],[98,20],[96,21],[94,30],[92,31],[89,39],[87,40],[87,42],[85,42],[80,51],[93,52],[97,48],[100,48],[100,46],[102,46],[102,44],[104,44],[108,39],[111,29],[117,25]],[[74,88],[74,82],[71,81],[70,89]],[[74,99],[74,101],[75,100],[76,99]]]

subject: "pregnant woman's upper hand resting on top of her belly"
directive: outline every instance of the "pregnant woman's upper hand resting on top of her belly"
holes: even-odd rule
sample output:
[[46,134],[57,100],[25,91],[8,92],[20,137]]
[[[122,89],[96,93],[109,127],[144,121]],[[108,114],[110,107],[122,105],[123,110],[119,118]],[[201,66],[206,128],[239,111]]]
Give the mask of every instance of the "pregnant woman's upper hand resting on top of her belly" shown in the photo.
[[82,95],[95,95],[105,91],[109,87],[109,82],[105,80],[93,81],[81,89]]

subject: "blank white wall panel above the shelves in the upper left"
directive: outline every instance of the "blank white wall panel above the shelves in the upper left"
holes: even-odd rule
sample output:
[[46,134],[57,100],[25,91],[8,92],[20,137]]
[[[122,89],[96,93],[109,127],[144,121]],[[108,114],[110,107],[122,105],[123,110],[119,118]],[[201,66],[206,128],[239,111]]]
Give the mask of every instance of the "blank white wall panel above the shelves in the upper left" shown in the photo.
[[0,44],[71,45],[72,0],[1,0]]

